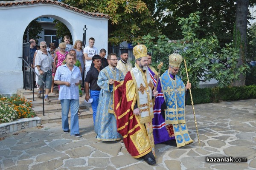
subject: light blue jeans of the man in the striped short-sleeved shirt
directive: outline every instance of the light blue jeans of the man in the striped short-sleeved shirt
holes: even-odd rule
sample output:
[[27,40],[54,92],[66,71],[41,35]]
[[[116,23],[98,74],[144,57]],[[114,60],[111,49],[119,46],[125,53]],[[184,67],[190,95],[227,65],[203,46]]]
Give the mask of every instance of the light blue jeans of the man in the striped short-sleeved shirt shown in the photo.
[[69,130],[69,125],[68,125],[69,108],[71,112],[70,135],[79,134],[79,122],[78,122],[79,100],[75,100],[75,99],[61,100],[62,129]]

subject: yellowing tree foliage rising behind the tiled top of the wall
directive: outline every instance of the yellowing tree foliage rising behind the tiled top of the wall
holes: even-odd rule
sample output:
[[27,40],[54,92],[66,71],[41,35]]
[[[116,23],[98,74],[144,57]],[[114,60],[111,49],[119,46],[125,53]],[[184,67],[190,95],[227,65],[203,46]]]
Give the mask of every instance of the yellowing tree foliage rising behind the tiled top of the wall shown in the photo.
[[154,19],[142,0],[64,0],[64,3],[89,12],[110,16],[108,41],[114,44],[158,33]]

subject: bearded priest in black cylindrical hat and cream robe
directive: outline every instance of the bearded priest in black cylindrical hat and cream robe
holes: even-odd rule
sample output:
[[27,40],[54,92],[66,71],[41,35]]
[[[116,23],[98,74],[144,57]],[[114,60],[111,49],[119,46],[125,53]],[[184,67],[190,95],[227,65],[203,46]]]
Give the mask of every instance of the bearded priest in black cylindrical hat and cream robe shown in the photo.
[[117,62],[116,68],[122,71],[124,76],[131,70],[132,64],[128,61],[128,49],[124,48],[120,50],[120,57],[121,59]]

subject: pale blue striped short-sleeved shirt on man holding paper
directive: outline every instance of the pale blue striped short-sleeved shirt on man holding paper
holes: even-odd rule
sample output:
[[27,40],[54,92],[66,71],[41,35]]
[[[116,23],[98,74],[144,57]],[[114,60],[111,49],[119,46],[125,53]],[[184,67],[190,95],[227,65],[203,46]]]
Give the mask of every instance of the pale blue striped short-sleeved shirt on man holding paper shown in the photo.
[[[74,65],[72,71],[67,67],[67,64],[61,65],[57,68],[54,80],[59,80],[63,82],[70,82],[70,77],[76,79],[81,77],[81,72],[78,67]],[[59,100],[61,99],[76,99],[79,100],[79,88],[78,85],[71,84],[69,87],[66,85],[60,85],[60,92],[59,92]]]

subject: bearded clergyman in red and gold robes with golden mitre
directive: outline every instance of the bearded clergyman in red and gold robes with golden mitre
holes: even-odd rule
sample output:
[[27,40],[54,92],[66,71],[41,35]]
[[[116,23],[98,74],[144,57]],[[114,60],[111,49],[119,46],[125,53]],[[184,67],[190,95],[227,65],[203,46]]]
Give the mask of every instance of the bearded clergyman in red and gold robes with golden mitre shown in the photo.
[[115,82],[114,113],[117,130],[123,136],[127,151],[134,158],[156,164],[152,129],[154,84],[148,71],[147,48],[133,48],[135,67],[128,71],[124,82]]

